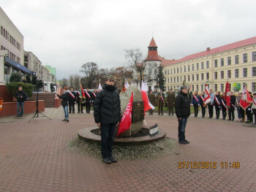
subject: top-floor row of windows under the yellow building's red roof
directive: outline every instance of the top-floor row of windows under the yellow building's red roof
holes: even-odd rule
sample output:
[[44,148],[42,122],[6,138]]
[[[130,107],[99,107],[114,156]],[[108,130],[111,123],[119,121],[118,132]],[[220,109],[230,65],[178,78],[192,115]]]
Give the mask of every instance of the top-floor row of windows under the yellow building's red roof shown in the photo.
[[[247,53],[244,53],[243,61],[244,61],[244,63],[246,63],[248,61],[247,60]],[[252,61],[256,61],[256,52],[252,53]],[[235,55],[235,64],[239,64],[239,55]],[[227,57],[227,65],[231,65],[231,57]],[[206,66],[204,65],[204,62],[201,62],[201,65],[199,65],[199,63],[197,63],[196,65],[192,64],[192,68],[191,68],[192,71],[194,71],[195,69],[199,70],[199,66],[200,66],[200,69],[208,69],[209,68],[209,61],[206,61]],[[220,59],[220,66],[224,66],[224,58]],[[214,67],[218,67],[218,60],[217,59],[214,60]],[[166,74],[176,74],[178,72],[182,72],[182,67],[181,66],[170,69],[170,72],[169,72],[169,69],[165,70],[165,75]],[[184,66],[184,71],[183,72],[190,72],[190,65]]]

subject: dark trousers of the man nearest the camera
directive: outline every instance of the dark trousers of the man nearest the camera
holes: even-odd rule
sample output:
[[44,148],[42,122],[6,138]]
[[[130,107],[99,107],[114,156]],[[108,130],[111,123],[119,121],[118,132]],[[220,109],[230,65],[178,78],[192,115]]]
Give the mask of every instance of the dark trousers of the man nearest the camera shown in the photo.
[[102,147],[102,158],[110,158],[113,156],[113,141],[115,134],[116,123],[102,124],[101,130],[101,147]]

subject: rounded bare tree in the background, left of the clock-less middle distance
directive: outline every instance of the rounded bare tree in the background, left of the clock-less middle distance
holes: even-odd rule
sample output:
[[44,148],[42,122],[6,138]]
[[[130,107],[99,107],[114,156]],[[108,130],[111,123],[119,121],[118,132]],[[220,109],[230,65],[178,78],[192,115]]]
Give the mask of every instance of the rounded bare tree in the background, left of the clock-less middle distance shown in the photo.
[[99,66],[94,62],[88,62],[81,66],[80,72],[85,74],[83,77],[83,85],[85,88],[95,88],[99,74]]

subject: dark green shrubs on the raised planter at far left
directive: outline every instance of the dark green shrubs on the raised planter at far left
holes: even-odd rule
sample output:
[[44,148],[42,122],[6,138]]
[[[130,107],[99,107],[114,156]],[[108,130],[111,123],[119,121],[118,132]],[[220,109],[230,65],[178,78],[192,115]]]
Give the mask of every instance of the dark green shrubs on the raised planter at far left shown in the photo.
[[23,91],[25,91],[28,96],[32,96],[34,85],[30,83],[24,83],[24,82],[7,83],[7,92],[12,94],[12,96],[15,96],[15,93],[16,91],[18,91],[18,88],[20,86],[23,88]]

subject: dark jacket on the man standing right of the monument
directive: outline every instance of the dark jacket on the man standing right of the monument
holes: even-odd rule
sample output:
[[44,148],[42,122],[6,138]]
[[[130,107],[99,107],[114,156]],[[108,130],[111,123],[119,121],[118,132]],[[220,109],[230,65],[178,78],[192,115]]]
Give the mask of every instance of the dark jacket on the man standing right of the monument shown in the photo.
[[175,99],[175,112],[177,118],[188,118],[190,115],[190,100],[186,93],[180,91]]

